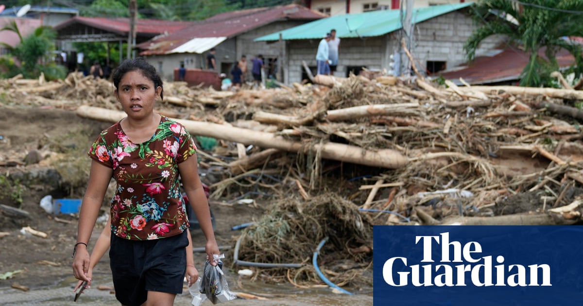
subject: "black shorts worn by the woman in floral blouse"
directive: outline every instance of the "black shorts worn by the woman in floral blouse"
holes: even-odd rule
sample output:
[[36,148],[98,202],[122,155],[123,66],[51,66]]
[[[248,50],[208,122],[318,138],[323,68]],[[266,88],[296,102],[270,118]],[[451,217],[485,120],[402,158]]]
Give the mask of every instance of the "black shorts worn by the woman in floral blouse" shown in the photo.
[[188,231],[156,240],[127,240],[111,234],[110,266],[115,298],[139,306],[147,291],[181,294],[186,274]]

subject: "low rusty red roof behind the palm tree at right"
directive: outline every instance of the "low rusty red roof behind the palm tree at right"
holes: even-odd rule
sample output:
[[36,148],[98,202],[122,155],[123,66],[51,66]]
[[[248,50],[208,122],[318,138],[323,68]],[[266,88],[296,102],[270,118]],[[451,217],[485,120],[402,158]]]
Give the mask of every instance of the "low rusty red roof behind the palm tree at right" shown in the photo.
[[[546,58],[545,48],[539,50],[539,55]],[[568,67],[575,62],[573,55],[566,50],[557,52],[556,59],[560,67]],[[518,48],[508,47],[493,57],[477,58],[465,68],[437,72],[435,75],[441,75],[444,79],[454,82],[462,78],[470,85],[518,80],[528,61],[529,54]]]

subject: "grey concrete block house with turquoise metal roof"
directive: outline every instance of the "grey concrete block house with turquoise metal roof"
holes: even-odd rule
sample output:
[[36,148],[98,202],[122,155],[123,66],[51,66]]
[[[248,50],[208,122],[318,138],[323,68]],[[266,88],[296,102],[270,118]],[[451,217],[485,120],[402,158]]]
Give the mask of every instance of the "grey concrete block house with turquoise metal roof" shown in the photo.
[[[413,39],[410,52],[421,71],[434,73],[466,62],[463,44],[476,29],[469,6],[472,3],[434,5],[415,8],[412,13]],[[307,75],[302,62],[315,72],[318,43],[331,29],[341,39],[338,70],[335,76],[346,77],[361,69],[391,71],[391,62],[401,46],[399,10],[375,10],[350,13],[315,20],[301,26],[258,37],[258,42],[286,42],[284,79],[301,82]],[[483,41],[478,55],[504,47],[505,37]]]

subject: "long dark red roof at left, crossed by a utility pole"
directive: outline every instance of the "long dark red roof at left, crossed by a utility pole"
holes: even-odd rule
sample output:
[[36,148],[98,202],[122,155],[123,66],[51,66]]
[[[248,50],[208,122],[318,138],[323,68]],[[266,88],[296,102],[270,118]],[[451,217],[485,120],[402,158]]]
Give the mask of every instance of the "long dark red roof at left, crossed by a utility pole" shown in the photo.
[[[156,36],[171,33],[191,25],[193,22],[177,22],[155,19],[138,19],[136,31],[142,35]],[[117,34],[129,33],[129,18],[81,17],[75,16],[63,23],[57,24],[55,30],[64,29],[72,24],[84,24],[90,27],[110,31]]]

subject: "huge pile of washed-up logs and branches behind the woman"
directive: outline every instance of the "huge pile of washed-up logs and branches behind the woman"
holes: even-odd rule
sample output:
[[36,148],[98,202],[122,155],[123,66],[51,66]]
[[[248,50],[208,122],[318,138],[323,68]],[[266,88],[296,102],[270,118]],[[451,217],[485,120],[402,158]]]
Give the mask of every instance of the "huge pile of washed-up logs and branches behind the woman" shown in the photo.
[[[296,180],[297,193],[306,198],[331,188],[317,182],[325,176],[322,160],[361,165],[359,174],[368,177],[355,181],[358,190],[346,198],[373,210],[378,224],[581,221],[583,111],[575,105],[583,91],[441,86],[382,75],[316,76],[313,82],[238,92],[165,82],[157,111],[193,135],[232,145],[223,147],[233,148],[234,160],[208,154],[228,170],[226,180],[266,171],[267,162],[278,159],[279,166],[293,167],[290,154],[303,154],[314,157],[308,167],[314,171]],[[68,108],[109,122],[125,115],[111,82],[79,73],[48,83],[0,80],[0,86],[19,104]],[[250,146],[255,150],[246,149]],[[524,192],[535,200],[523,213],[532,216],[538,209],[544,217],[496,220],[504,215],[501,203]],[[492,221],[468,221],[468,216]]]

